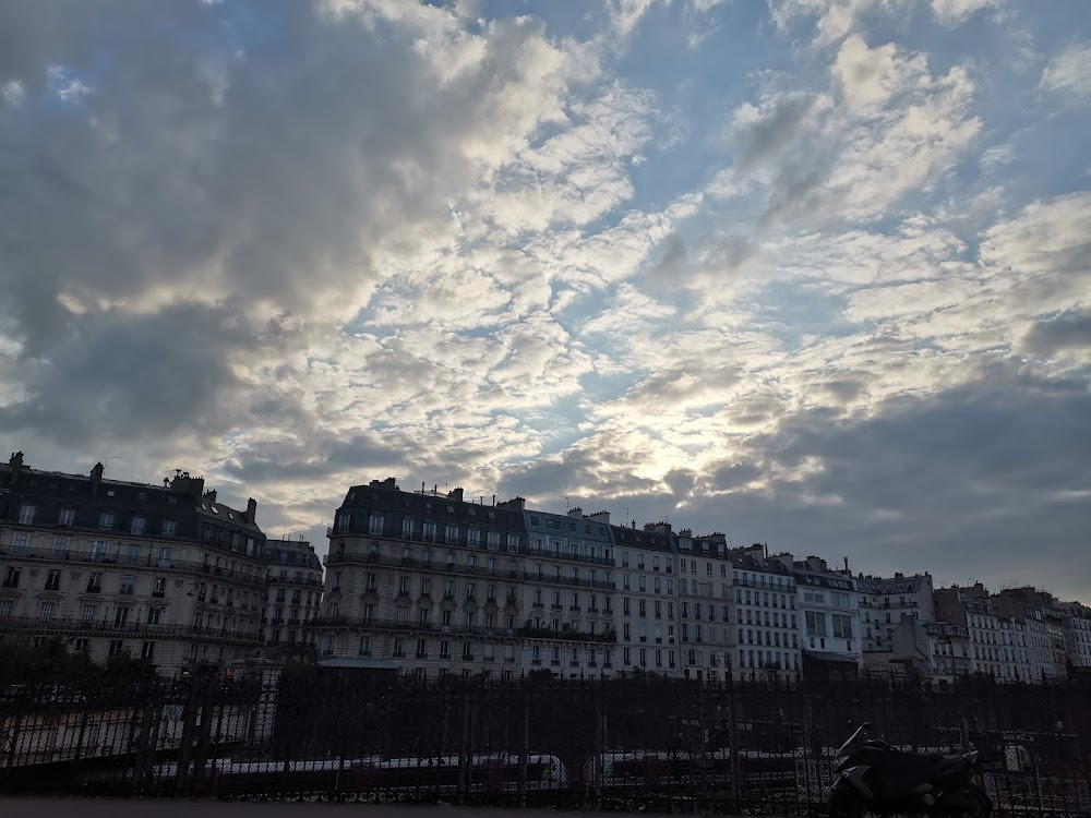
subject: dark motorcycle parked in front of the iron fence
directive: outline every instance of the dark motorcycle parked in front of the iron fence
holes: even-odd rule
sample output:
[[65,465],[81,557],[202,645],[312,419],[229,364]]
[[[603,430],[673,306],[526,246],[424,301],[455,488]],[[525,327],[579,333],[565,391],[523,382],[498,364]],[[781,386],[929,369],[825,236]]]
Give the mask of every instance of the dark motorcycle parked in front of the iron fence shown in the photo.
[[993,803],[974,782],[978,750],[945,756],[906,753],[868,738],[864,722],[834,760],[837,780],[829,795],[831,818],[922,814],[950,818],[988,818]]

